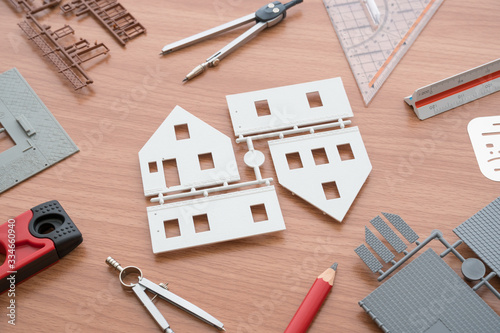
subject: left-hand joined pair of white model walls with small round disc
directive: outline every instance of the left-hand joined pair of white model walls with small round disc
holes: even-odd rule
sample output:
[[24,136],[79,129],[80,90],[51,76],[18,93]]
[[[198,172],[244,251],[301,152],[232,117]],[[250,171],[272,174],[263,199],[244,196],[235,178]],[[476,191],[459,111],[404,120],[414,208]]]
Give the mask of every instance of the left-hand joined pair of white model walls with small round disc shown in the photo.
[[[139,152],[144,194],[158,203],[147,208],[153,252],[285,229],[272,179],[260,176],[261,157],[247,153],[257,179],[235,183],[231,140],[176,106]],[[244,186],[252,188],[213,194]]]

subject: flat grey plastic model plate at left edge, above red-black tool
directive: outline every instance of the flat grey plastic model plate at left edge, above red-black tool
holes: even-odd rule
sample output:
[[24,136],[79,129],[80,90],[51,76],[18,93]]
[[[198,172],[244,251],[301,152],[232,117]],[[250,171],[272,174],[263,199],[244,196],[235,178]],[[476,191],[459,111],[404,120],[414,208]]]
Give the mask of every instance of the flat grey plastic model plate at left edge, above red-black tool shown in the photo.
[[0,152],[0,193],[78,152],[15,68],[0,74],[0,132],[15,144]]

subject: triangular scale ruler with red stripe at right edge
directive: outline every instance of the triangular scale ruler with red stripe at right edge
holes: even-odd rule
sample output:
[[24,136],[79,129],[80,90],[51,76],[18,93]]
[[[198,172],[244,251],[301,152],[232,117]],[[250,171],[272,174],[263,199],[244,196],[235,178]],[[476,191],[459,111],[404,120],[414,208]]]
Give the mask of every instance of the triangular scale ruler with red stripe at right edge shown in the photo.
[[500,59],[415,90],[405,102],[421,120],[500,90]]

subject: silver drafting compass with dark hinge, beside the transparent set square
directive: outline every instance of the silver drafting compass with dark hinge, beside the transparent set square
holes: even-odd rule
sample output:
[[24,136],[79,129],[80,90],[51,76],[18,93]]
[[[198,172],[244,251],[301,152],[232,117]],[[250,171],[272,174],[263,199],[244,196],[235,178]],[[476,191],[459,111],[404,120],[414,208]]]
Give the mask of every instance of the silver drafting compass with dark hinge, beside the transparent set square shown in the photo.
[[165,45],[161,50],[161,55],[169,54],[174,51],[180,50],[182,48],[188,47],[190,45],[196,44],[198,42],[204,41],[211,37],[220,35],[229,30],[238,28],[244,24],[250,22],[256,22],[254,26],[241,34],[238,38],[234,39],[231,43],[224,46],[222,49],[217,51],[214,55],[209,57],[204,63],[196,66],[189,74],[186,75],[186,78],[183,82],[191,80],[192,78],[203,73],[207,67],[215,67],[219,64],[219,62],[227,57],[231,52],[236,50],[241,45],[247,43],[250,39],[257,36],[259,32],[262,30],[272,27],[278,23],[280,23],[286,17],[286,11],[301,3],[303,0],[292,0],[288,3],[282,4],[279,1],[273,1],[269,4],[259,8],[255,13],[248,14],[239,19],[233,20],[231,22],[219,25],[218,27],[200,32],[191,37],[184,38],[180,41]]

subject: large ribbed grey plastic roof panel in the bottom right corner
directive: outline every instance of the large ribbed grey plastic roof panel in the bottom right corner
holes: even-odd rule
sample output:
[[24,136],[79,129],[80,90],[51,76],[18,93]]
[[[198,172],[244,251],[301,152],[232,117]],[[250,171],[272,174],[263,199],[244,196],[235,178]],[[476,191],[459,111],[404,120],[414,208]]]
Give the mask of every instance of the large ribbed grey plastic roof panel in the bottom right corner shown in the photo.
[[500,331],[500,317],[432,249],[359,305],[384,332]]

